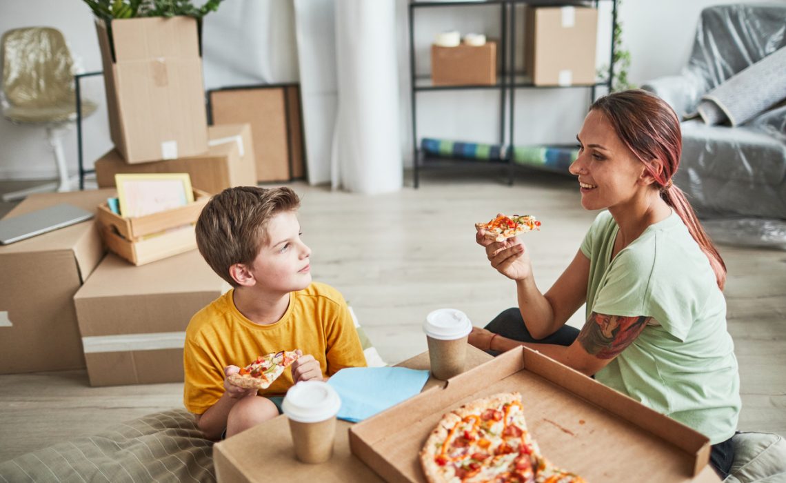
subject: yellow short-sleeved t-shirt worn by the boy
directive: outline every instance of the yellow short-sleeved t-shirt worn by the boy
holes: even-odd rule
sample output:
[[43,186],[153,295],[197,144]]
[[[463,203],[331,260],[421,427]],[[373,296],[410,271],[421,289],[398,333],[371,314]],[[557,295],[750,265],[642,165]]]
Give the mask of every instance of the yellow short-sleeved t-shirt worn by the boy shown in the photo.
[[[183,404],[202,414],[224,393],[224,367],[244,367],[270,352],[299,348],[317,359],[324,376],[344,367],[365,366],[365,356],[341,293],[313,282],[292,292],[284,316],[269,325],[252,323],[233,302],[230,290],[196,312],[185,330]],[[286,393],[292,371],[284,371],[260,396]]]

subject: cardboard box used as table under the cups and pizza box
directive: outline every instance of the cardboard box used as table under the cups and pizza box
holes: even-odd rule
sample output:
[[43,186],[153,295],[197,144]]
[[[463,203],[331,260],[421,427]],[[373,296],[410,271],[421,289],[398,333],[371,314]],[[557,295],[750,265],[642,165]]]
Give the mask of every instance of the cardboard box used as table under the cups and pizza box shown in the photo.
[[[474,347],[467,348],[467,367],[476,367],[489,359],[491,356],[486,352]],[[428,370],[428,352],[397,365]],[[423,390],[444,384],[444,381],[428,378]],[[351,454],[347,438],[347,430],[351,426],[351,422],[336,421],[336,445],[333,447],[332,458],[321,464],[306,464],[295,459],[288,420],[286,416],[280,415],[216,443],[213,446],[216,477],[220,483],[383,481],[369,466],[365,466]],[[259,444],[259,441],[265,441],[265,444]]]

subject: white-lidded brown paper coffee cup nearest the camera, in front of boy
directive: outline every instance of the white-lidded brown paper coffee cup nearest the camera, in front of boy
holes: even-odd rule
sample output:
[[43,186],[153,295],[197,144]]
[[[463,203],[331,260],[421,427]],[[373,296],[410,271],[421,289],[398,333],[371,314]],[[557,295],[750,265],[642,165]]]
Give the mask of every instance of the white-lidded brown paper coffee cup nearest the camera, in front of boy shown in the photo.
[[336,389],[326,382],[304,381],[289,388],[281,409],[289,419],[297,459],[303,463],[330,459],[340,407]]

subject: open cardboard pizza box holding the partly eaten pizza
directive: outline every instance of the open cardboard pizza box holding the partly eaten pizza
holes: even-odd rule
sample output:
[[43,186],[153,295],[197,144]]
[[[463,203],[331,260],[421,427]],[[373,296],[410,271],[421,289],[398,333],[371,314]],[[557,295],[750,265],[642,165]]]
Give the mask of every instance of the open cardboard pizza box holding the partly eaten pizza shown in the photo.
[[424,482],[418,455],[443,415],[511,391],[545,458],[588,482],[720,481],[707,437],[523,347],[351,426],[351,452],[386,481]]

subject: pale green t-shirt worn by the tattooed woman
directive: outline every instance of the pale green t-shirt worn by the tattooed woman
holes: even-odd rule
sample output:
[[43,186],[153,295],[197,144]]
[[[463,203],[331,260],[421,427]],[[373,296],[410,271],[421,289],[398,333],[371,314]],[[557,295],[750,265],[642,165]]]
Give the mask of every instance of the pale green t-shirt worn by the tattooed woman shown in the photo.
[[726,304],[707,256],[674,212],[611,260],[619,227],[601,212],[582,242],[589,258],[586,315],[652,317],[598,382],[705,434],[729,439],[740,414],[740,376]]

